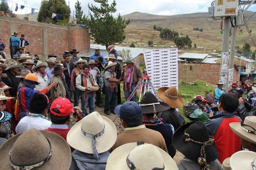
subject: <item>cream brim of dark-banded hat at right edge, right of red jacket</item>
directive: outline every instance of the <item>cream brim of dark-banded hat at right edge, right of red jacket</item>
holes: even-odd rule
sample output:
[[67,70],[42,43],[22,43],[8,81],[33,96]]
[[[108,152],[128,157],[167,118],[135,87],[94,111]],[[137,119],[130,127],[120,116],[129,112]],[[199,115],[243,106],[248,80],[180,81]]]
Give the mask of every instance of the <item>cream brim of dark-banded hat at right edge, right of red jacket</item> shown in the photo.
[[232,131],[237,134],[240,138],[243,138],[245,141],[251,142],[256,144],[256,136],[255,134],[250,134],[248,132],[245,132],[242,127],[240,122],[233,122],[229,124],[230,128]]

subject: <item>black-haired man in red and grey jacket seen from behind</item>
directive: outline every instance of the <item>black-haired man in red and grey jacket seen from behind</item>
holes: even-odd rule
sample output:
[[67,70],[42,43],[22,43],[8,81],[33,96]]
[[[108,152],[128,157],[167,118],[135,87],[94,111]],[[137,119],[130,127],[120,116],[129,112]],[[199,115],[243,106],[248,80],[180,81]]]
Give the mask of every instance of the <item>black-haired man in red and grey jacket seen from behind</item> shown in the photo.
[[240,122],[234,114],[237,108],[238,98],[234,94],[222,94],[218,102],[220,114],[210,117],[210,120],[205,123],[214,137],[220,163],[241,148],[240,138],[229,127],[229,123]]

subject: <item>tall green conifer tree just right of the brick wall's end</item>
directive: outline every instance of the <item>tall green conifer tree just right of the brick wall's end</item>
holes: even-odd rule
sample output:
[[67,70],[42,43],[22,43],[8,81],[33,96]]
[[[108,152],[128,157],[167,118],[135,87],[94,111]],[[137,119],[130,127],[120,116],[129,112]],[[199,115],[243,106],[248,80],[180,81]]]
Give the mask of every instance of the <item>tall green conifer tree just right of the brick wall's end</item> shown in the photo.
[[86,19],[93,41],[106,46],[106,48],[110,44],[123,42],[126,38],[124,29],[130,23],[130,19],[123,19],[120,14],[114,18],[115,0],[111,4],[107,0],[94,1],[100,3],[100,7],[93,4],[88,5],[90,17]]

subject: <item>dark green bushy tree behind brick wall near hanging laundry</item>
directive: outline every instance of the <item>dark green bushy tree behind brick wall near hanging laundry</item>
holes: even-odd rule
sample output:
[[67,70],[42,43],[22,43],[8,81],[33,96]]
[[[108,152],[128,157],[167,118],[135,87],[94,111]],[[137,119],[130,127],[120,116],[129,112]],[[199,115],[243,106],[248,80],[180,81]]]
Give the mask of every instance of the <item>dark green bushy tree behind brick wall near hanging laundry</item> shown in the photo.
[[[52,13],[61,14],[60,19],[53,19]],[[38,13],[38,22],[55,23],[67,26],[70,19],[70,7],[65,0],[43,0]]]

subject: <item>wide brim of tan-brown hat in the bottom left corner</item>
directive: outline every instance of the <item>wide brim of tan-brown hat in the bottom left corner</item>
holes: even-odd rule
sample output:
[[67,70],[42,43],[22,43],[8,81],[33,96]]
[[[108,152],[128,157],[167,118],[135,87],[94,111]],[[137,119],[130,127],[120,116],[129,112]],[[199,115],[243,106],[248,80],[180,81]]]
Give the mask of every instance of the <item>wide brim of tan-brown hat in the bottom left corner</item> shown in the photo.
[[[37,169],[38,170],[69,169],[71,165],[72,157],[71,157],[70,146],[68,146],[67,142],[64,141],[63,138],[56,133],[49,132],[49,131],[40,131],[40,132],[43,135],[45,135],[51,142],[52,156],[45,164],[43,164],[43,166]],[[18,137],[21,134],[22,133],[16,134],[16,136],[13,136],[1,146],[0,148],[1,169],[6,169],[6,170],[13,169],[9,163],[9,152],[11,151],[14,143],[17,141]]]

